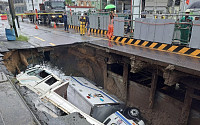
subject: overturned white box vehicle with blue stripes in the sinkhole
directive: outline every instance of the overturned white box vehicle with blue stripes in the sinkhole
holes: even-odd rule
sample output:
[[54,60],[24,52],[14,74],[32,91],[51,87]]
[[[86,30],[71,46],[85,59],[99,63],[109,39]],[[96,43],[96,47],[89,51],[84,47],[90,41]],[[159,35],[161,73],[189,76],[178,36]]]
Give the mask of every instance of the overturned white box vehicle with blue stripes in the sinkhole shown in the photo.
[[68,101],[105,125],[144,125],[137,108],[125,107],[95,83],[83,77],[69,76]]

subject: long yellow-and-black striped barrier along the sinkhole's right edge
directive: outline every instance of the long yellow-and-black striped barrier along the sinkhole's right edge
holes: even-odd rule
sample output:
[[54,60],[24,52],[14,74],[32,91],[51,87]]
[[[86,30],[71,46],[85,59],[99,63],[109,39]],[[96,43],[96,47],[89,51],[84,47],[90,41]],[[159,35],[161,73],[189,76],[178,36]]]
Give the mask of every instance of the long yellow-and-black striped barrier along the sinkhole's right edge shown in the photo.
[[118,37],[118,36],[112,36],[111,40],[113,42],[116,42],[117,45],[141,46],[141,47],[146,47],[146,48],[150,48],[150,49],[154,49],[158,51],[166,51],[166,52],[200,58],[200,49],[194,49],[194,48],[189,48],[189,47],[184,47],[184,46],[171,45],[171,44],[158,43],[158,42],[151,42],[151,41],[145,41],[145,40],[138,40],[138,39],[132,39],[132,38],[126,38],[126,37]]

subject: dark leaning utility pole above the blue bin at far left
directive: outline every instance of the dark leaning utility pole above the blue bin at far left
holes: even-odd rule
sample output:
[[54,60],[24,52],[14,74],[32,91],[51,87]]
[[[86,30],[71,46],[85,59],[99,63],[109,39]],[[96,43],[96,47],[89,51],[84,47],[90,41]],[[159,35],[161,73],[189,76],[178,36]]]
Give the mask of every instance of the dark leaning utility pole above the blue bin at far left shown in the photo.
[[15,35],[16,35],[16,37],[18,37],[17,28],[15,25],[15,9],[14,9],[13,0],[8,0],[8,4],[9,4],[9,8],[10,8],[10,14],[12,16],[12,23],[13,23],[13,28],[15,30]]

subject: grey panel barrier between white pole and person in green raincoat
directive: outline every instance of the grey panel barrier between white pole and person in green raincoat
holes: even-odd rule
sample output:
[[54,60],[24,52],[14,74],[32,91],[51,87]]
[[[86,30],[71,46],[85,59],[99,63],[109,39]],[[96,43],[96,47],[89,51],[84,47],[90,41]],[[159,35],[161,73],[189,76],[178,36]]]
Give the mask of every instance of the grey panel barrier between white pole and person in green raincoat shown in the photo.
[[135,39],[171,44],[175,20],[136,18]]

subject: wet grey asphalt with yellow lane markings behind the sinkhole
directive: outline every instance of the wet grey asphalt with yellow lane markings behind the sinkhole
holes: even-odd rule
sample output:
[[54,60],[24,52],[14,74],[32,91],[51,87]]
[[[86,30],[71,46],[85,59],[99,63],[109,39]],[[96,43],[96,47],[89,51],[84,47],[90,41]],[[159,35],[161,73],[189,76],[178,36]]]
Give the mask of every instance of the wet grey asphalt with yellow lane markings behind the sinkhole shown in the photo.
[[74,43],[83,43],[103,39],[98,37],[95,38],[93,36],[90,37],[87,35],[80,36],[79,33],[75,33],[72,29],[70,29],[70,33],[67,33],[63,28],[53,29],[41,25],[38,27],[39,29],[35,29],[33,24],[21,23],[22,34],[29,36],[29,43],[33,44],[36,48],[70,45]]

